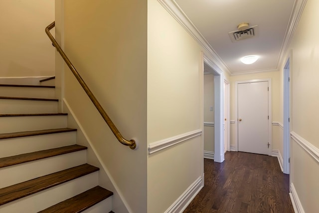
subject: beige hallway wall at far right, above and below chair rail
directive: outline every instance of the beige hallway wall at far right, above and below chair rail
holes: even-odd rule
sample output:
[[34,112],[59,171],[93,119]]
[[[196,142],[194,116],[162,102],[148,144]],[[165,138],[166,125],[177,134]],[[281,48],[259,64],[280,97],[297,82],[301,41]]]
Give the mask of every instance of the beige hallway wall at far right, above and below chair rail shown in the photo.
[[[319,153],[319,1],[308,0],[289,46],[292,51],[291,131]],[[319,162],[291,140],[291,181],[306,213],[319,209]],[[316,156],[316,155],[314,155]]]

